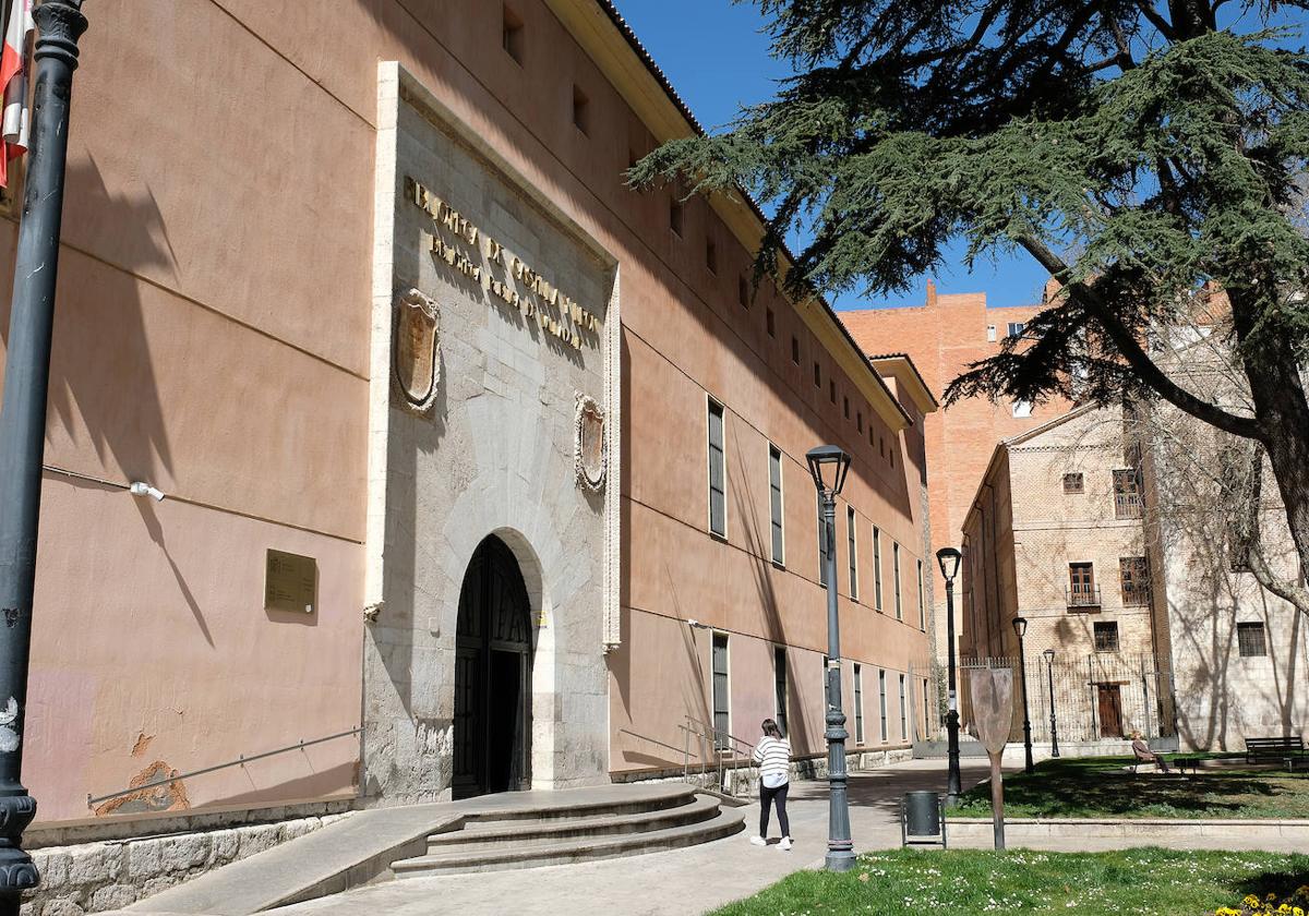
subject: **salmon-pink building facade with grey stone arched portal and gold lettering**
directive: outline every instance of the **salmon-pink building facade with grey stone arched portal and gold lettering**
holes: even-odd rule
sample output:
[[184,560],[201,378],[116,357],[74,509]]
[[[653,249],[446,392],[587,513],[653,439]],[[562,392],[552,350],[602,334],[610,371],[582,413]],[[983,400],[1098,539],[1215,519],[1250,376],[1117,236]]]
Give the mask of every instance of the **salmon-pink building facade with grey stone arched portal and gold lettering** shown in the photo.
[[88,14],[38,840],[818,760],[827,588],[851,752],[935,729],[929,386],[751,285],[747,203],[626,185],[699,127],[607,1]]

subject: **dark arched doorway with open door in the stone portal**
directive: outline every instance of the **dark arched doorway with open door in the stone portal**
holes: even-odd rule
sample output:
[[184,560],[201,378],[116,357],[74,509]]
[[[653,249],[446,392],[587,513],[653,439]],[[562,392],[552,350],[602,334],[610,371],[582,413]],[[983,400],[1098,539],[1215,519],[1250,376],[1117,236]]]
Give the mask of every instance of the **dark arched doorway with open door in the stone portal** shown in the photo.
[[456,798],[530,785],[531,608],[518,560],[491,535],[459,589],[454,649]]

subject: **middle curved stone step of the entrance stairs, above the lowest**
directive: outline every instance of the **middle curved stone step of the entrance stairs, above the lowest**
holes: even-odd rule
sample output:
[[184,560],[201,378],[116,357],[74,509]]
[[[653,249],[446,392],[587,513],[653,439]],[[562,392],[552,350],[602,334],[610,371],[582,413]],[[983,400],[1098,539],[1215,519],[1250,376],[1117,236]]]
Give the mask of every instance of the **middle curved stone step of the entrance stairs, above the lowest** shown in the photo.
[[691,796],[686,803],[675,807],[657,807],[637,814],[594,814],[581,818],[543,819],[539,822],[483,820],[469,823],[463,830],[432,834],[427,840],[429,853],[442,852],[452,847],[469,849],[473,844],[487,844],[512,840],[514,843],[535,843],[572,839],[576,836],[602,836],[611,834],[637,834],[679,824],[708,820],[719,813],[719,800],[713,796]]

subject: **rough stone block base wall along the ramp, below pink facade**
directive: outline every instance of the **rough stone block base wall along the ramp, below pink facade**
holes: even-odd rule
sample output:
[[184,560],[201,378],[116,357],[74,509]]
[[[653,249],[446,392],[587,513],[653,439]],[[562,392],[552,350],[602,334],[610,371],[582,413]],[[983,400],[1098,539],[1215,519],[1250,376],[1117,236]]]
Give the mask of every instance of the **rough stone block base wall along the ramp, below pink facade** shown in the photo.
[[140,840],[46,847],[31,853],[41,887],[22,916],[82,916],[120,909],[183,881],[247,858],[348,814],[174,834]]

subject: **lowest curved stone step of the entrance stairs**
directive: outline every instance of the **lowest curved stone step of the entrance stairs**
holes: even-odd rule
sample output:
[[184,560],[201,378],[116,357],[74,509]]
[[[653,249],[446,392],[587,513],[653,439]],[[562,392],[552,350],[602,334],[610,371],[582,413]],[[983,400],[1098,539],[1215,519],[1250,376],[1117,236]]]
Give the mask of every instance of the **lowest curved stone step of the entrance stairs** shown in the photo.
[[493,848],[476,851],[465,851],[456,845],[440,853],[391,862],[391,873],[404,879],[619,858],[709,843],[738,834],[744,827],[745,814],[740,809],[720,810],[708,820],[637,834],[580,836],[531,845],[501,840]]

